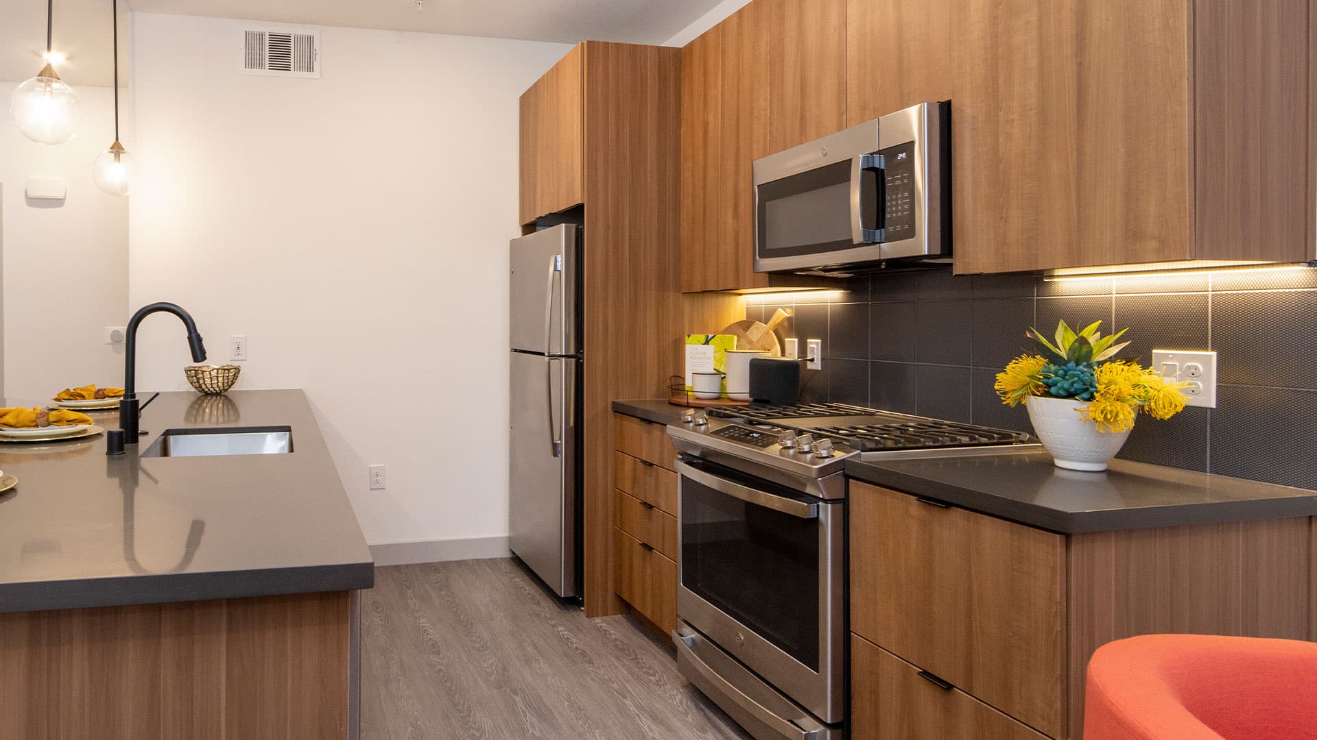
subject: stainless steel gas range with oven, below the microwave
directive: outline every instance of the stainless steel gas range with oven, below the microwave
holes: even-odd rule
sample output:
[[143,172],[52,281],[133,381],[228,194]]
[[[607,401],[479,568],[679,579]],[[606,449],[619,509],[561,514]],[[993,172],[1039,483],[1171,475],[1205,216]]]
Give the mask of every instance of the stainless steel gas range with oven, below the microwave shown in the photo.
[[687,412],[677,664],[760,740],[844,728],[847,460],[1036,450],[1027,435],[846,404]]

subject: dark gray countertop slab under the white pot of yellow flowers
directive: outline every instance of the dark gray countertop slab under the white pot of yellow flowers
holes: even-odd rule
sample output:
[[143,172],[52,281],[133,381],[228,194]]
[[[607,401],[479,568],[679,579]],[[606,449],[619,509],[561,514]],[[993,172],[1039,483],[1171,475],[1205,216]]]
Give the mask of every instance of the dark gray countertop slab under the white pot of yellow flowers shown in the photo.
[[1046,453],[848,461],[846,474],[1063,533],[1317,516],[1317,491],[1113,460],[1062,470]]

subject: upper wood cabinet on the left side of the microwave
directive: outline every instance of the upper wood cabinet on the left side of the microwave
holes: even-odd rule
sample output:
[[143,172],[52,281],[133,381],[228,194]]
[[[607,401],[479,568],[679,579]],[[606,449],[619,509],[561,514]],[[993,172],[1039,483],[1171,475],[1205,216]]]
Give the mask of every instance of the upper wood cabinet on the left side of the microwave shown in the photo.
[[682,49],[681,287],[817,286],[753,271],[755,159],[846,124],[846,0],[756,0]]

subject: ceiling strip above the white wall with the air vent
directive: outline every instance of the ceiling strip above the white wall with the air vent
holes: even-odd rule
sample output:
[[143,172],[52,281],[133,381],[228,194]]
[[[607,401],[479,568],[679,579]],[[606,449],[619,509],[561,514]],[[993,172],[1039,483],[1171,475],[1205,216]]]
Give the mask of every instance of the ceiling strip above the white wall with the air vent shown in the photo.
[[[0,0],[8,3],[11,0]],[[104,1],[104,0],[101,0]],[[718,0],[130,0],[142,13],[576,43],[662,43]]]

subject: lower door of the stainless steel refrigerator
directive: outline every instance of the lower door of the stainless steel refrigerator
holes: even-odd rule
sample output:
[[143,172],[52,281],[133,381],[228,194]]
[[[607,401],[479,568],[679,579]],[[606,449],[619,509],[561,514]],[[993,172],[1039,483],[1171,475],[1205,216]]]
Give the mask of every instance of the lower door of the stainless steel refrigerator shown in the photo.
[[512,552],[560,596],[577,591],[577,359],[512,353]]

